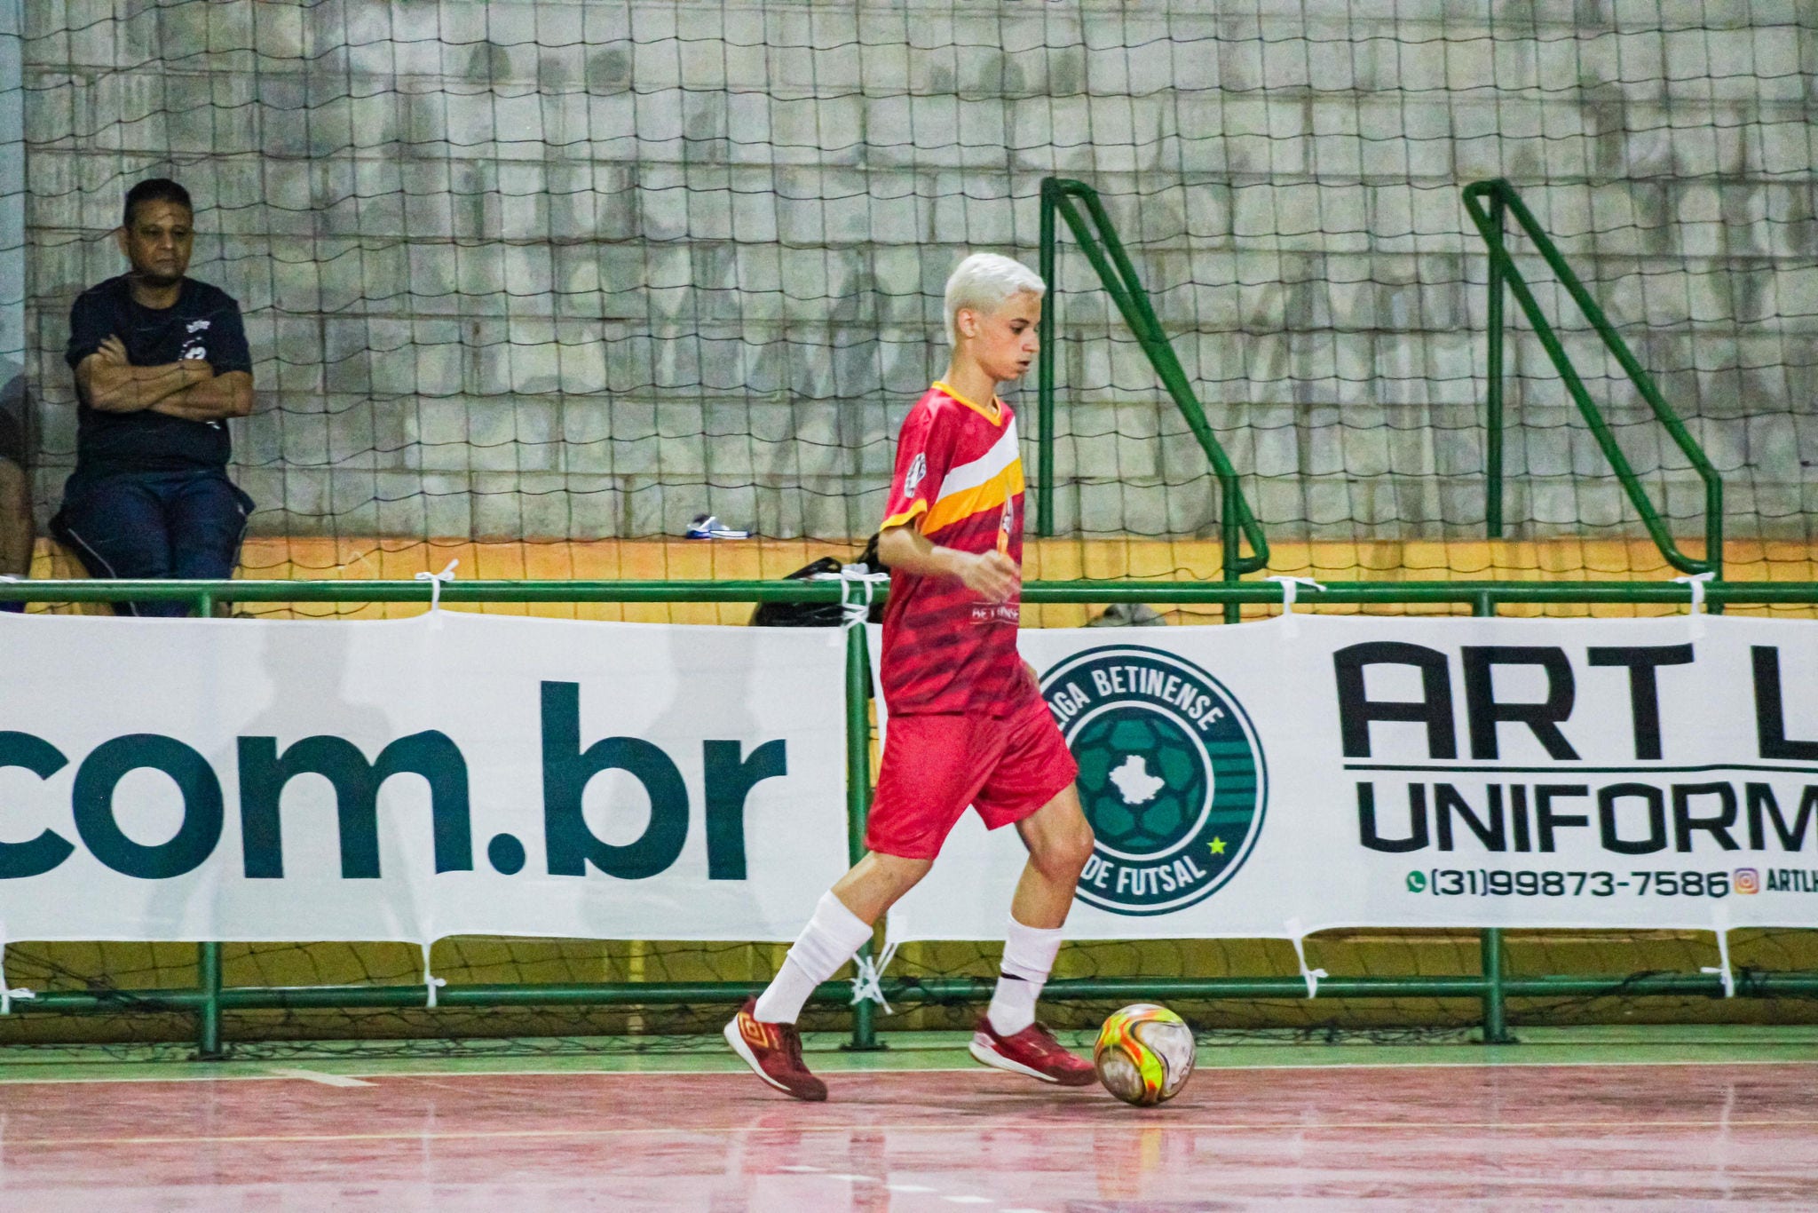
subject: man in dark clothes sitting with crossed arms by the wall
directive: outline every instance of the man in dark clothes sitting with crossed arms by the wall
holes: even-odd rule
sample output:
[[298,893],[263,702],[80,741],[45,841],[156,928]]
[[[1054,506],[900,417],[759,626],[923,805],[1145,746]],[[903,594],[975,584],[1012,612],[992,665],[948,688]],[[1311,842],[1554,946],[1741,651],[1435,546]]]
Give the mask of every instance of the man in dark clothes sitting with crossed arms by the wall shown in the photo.
[[227,480],[227,418],[253,411],[253,358],[240,306],[184,276],[191,220],[176,182],[133,185],[118,231],[131,269],[69,309],[76,471],[51,533],[91,576],[227,578],[240,560],[253,500]]

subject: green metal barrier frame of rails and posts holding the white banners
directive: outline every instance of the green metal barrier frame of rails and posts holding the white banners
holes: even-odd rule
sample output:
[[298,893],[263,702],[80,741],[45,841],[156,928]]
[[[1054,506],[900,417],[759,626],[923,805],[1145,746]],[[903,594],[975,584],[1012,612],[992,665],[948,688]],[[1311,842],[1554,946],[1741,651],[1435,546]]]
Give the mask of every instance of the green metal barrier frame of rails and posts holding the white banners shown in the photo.
[[[193,602],[205,615],[216,602],[424,602],[427,582],[107,582],[38,580],[0,582],[0,602],[118,602],[165,600]],[[834,582],[453,582],[442,589],[449,604],[478,602],[838,602]],[[1029,582],[1024,602],[1167,602],[1180,606],[1274,606],[1282,591],[1258,582]],[[1494,615],[1500,604],[1685,604],[1689,591],[1669,582],[1329,582],[1324,589],[1305,587],[1307,606],[1434,606],[1451,604],[1473,615]],[[1716,582],[1709,587],[1713,607],[1818,606],[1818,582]],[[847,631],[845,647],[845,729],[847,729],[847,824],[849,855],[862,853],[864,820],[871,800],[871,718],[869,657],[865,631]],[[891,1000],[982,1000],[991,995],[989,978],[953,977],[931,980],[884,980]],[[487,1006],[665,1006],[684,1002],[733,1004],[758,986],[753,982],[596,982],[562,986],[447,986],[436,991],[445,1007]],[[1320,997],[1334,998],[1478,998],[1483,1007],[1483,1040],[1509,1042],[1507,1000],[1523,997],[1596,997],[1596,995],[1705,995],[1722,997],[1723,986],[1711,973],[1645,973],[1629,978],[1583,975],[1507,977],[1503,938],[1498,929],[1482,931],[1478,975],[1454,977],[1329,977],[1320,980]],[[1818,997],[1818,973],[1753,973],[1738,986],[1740,995]],[[1302,977],[1124,977],[1060,978],[1049,982],[1045,997],[1067,998],[1304,998]],[[416,1007],[425,1006],[425,986],[313,986],[253,987],[222,986],[220,944],[200,944],[196,984],[189,989],[133,991],[40,991],[31,1000],[13,1002],[15,1013],[45,1011],[191,1011],[196,1017],[200,1057],[222,1057],[222,1015],[240,1009],[307,1007]],[[820,1002],[849,1002],[844,982],[827,982],[816,991]],[[880,1048],[874,1006],[853,1007],[849,1048]]]

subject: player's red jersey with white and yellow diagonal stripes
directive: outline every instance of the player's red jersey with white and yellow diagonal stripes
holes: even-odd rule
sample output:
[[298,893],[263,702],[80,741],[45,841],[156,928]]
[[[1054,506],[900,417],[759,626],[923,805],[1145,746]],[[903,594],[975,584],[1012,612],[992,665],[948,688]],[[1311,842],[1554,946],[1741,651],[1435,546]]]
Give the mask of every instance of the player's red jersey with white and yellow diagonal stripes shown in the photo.
[[[934,384],[896,438],[884,529],[922,518],[940,547],[1002,551],[1022,566],[1024,476],[1016,415]],[[884,607],[884,702],[891,713],[1007,717],[1029,698],[1016,653],[1020,595],[985,602],[945,576],[891,571]]]

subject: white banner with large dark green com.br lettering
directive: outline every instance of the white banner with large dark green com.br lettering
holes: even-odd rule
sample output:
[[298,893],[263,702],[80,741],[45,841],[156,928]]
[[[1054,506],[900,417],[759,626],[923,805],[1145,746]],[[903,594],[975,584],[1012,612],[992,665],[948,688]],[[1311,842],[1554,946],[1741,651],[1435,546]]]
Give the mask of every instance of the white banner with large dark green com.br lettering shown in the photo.
[[0,615],[0,940],[789,940],[824,631]]

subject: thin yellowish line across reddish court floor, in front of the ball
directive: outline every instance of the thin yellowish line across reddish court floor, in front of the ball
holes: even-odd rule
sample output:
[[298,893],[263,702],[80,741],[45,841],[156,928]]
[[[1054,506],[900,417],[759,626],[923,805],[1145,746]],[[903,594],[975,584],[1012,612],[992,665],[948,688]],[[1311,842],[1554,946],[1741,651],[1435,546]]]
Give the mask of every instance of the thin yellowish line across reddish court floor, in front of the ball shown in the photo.
[[[1818,1118],[1793,1118],[1793,1120],[1334,1120],[1331,1124],[1307,1124],[1304,1120],[1280,1120],[1280,1122],[1187,1122],[1187,1124],[1169,1124],[1165,1120],[1134,1120],[1129,1124],[1131,1129],[1149,1131],[1149,1129],[1167,1129],[1173,1133],[1354,1133],[1358,1129],[1629,1129],[1631,1133],[1647,1133],[1653,1129],[1793,1129],[1793,1128],[1814,1128]],[[1000,1120],[984,1124],[967,1124],[969,1131],[1044,1131],[1054,1128],[1051,1124],[1031,1124],[1025,1120]],[[1069,1122],[1062,1128],[1078,1128],[1078,1122]],[[1104,1122],[1096,1122],[1091,1128],[1102,1129]],[[669,1137],[722,1137],[729,1133],[953,1133],[951,1124],[829,1124],[829,1126],[769,1126],[758,1128],[749,1124],[724,1124],[724,1126],[676,1126],[676,1128],[645,1128],[645,1129],[444,1129],[435,1133],[396,1129],[384,1133],[224,1133],[224,1135],[196,1135],[196,1137],[18,1137],[7,1133],[7,1146],[251,1146],[251,1144],[271,1144],[271,1142],[293,1142],[293,1144],[329,1144],[329,1142],[474,1142],[474,1140],[540,1140],[540,1138],[560,1138],[560,1140],[578,1140],[594,1137],[651,1137],[651,1135],[669,1135]]]

